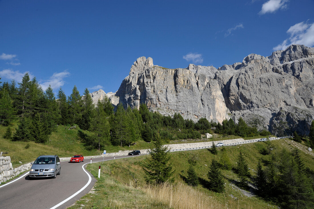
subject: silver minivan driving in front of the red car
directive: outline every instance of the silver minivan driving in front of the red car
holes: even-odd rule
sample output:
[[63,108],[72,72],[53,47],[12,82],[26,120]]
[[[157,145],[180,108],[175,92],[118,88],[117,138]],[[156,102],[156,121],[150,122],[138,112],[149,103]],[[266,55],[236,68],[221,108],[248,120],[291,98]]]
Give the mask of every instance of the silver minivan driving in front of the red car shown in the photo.
[[61,174],[60,158],[57,155],[41,155],[31,162],[30,179],[52,177]]

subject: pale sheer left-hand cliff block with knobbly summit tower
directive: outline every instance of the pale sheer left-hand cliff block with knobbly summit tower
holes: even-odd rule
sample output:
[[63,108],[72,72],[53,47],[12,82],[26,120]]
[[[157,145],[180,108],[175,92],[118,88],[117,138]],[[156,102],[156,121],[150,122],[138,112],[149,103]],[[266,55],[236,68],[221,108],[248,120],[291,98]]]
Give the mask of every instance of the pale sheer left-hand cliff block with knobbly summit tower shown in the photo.
[[150,110],[164,115],[181,113],[183,118],[206,117],[222,122],[230,118],[229,110],[217,80],[207,76],[214,77],[216,71],[214,67],[195,65],[166,69],[153,65],[152,58],[141,57],[132,65],[116,96],[125,107],[139,108],[145,103]]

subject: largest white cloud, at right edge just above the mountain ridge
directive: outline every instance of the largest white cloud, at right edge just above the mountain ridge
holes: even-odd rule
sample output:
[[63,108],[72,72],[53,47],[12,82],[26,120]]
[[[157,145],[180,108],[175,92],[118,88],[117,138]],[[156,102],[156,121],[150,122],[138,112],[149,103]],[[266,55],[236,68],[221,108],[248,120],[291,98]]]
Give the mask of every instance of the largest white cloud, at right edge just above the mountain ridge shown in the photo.
[[287,30],[287,33],[290,34],[290,37],[276,47],[273,47],[273,50],[284,50],[291,44],[303,44],[307,47],[314,46],[314,23],[297,23],[291,26]]

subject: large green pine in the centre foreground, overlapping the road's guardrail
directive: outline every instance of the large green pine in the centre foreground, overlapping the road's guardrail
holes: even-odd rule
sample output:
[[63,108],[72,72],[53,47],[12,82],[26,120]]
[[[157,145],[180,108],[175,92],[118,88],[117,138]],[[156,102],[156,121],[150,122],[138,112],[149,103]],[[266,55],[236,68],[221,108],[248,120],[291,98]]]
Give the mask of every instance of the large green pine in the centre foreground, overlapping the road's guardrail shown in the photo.
[[171,177],[172,163],[170,163],[170,155],[168,147],[162,145],[162,140],[158,133],[154,134],[154,148],[150,150],[151,158],[141,163],[141,167],[145,172],[146,183],[160,184],[166,181],[173,182]]

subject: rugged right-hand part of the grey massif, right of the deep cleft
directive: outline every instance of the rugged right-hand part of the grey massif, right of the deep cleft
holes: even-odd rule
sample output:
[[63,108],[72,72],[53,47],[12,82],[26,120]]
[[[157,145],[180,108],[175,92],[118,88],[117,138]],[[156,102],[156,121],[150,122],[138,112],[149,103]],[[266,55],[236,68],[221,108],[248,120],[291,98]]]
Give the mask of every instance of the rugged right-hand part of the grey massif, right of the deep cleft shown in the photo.
[[242,117],[277,135],[308,134],[314,119],[314,48],[292,45],[269,57],[250,54],[240,68],[224,69],[215,79],[235,121]]

